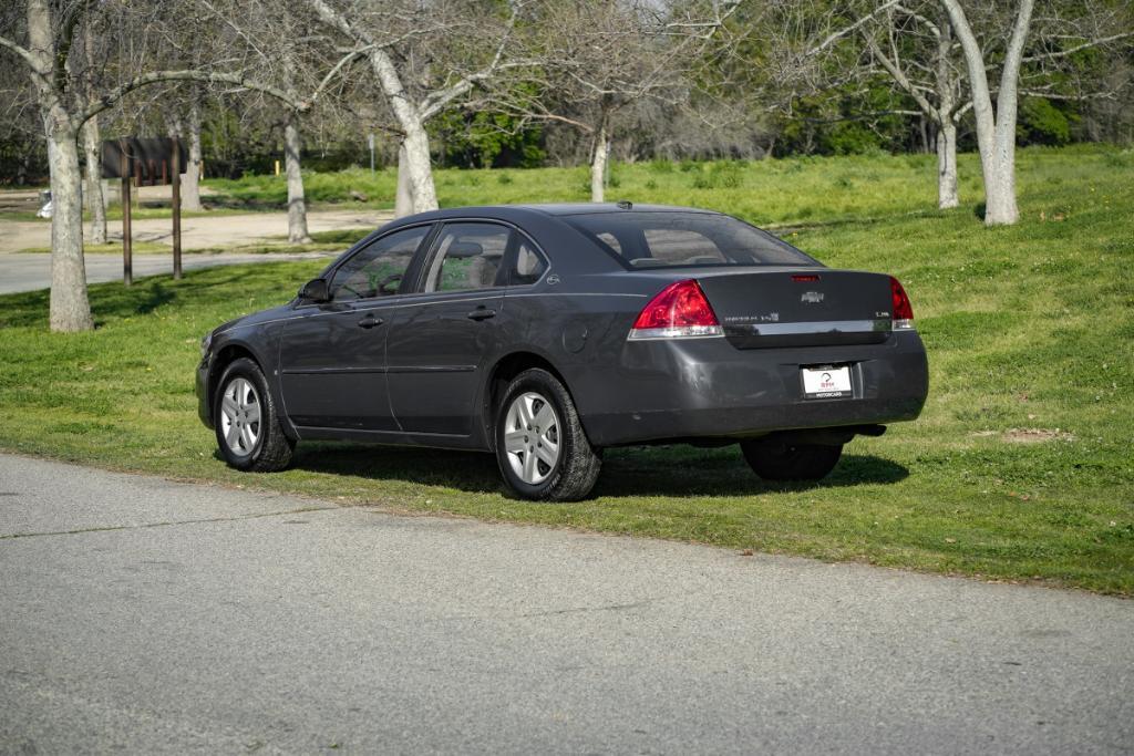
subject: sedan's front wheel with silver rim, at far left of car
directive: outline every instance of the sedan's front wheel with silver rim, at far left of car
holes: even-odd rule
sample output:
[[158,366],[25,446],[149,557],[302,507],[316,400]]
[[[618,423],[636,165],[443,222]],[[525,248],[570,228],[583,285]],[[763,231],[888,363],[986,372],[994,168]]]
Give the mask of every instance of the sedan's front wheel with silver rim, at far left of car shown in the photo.
[[234,360],[217,385],[213,425],[225,461],[252,473],[287,467],[295,442],[280,427],[276,400],[260,366],[246,357]]

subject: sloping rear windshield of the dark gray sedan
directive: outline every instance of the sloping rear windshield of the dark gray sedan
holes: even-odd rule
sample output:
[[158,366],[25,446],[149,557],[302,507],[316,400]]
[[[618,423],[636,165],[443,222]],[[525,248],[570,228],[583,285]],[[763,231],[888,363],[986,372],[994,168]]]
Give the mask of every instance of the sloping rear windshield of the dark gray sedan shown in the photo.
[[728,215],[625,211],[565,221],[631,267],[818,265],[765,231]]

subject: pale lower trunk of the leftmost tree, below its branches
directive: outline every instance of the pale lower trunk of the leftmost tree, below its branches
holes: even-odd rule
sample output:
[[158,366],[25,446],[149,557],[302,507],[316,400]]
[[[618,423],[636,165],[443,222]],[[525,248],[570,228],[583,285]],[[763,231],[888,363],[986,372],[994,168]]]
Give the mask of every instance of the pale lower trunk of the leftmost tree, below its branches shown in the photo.
[[[51,330],[94,328],[86,296],[83,262],[83,175],[78,167],[78,135],[49,117],[48,164],[51,168]],[[54,124],[51,121],[54,120]]]

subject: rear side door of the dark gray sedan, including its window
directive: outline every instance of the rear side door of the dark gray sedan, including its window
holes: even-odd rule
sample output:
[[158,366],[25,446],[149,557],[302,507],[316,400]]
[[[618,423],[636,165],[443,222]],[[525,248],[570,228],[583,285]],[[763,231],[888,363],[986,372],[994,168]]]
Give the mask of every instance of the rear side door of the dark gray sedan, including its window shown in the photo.
[[489,221],[438,231],[418,294],[399,304],[387,337],[390,404],[406,433],[477,444],[473,418],[505,317],[501,271],[510,244],[513,230]]

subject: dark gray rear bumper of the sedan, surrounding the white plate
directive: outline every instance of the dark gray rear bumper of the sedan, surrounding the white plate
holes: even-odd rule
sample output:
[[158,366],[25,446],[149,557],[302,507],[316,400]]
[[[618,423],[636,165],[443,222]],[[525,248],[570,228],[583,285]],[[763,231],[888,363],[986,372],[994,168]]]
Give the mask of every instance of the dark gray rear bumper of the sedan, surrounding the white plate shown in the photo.
[[[806,399],[801,366],[849,365],[853,396]],[[599,447],[743,439],[773,431],[917,417],[929,391],[915,331],[878,345],[736,349],[725,339],[627,342],[616,381],[584,385],[583,426]]]

